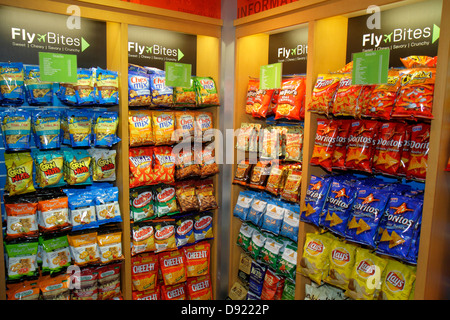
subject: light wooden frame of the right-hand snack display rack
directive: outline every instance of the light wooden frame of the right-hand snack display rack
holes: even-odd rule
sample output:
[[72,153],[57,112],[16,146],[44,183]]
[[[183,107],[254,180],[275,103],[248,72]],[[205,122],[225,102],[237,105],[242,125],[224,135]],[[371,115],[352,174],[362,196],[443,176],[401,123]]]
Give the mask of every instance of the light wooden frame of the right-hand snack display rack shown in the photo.
[[[306,105],[311,101],[311,94],[318,74],[333,72],[342,68],[346,62],[347,23],[349,17],[362,16],[371,5],[381,10],[407,7],[417,1],[299,1],[285,6],[243,17],[234,21],[236,28],[236,63],[235,63],[235,100],[234,129],[243,122],[263,123],[245,113],[247,86],[249,77],[259,77],[260,67],[268,64],[269,35],[296,28],[308,28],[308,58],[306,72]],[[426,2],[426,1],[425,1]],[[448,210],[450,203],[449,176],[445,167],[449,152],[450,134],[449,111],[449,39],[448,19],[450,3],[442,2],[441,33],[439,39],[436,70],[436,86],[434,92],[433,116],[431,121],[431,139],[428,154],[428,171],[425,182],[423,203],[423,220],[421,240],[417,261],[414,299],[442,299],[445,287],[448,287],[448,272],[445,261],[448,240]],[[414,52],[411,52],[413,55]],[[320,115],[306,111],[304,119],[303,164],[300,205],[305,204],[305,194],[311,175],[322,175],[325,170],[310,164],[314,148],[314,137],[317,130],[317,119]],[[323,116],[322,116],[323,118]],[[236,154],[235,154],[236,160]],[[233,165],[236,172],[237,163]],[[244,190],[240,185],[231,184],[230,211],[230,266],[229,288],[237,281],[240,255],[243,250],[236,244],[242,222],[233,216],[233,208],[239,192]],[[305,236],[316,232],[315,226],[300,222],[298,234],[297,266],[303,253]],[[446,258],[447,257],[447,258]],[[305,299],[305,285],[310,279],[297,271],[295,299]]]

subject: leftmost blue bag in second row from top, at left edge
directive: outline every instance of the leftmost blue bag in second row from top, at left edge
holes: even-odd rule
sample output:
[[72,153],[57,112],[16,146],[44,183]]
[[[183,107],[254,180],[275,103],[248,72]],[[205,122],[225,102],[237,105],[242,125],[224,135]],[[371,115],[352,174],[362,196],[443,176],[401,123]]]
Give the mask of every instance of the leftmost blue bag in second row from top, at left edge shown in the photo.
[[31,113],[6,109],[0,113],[5,151],[29,150],[31,146]]

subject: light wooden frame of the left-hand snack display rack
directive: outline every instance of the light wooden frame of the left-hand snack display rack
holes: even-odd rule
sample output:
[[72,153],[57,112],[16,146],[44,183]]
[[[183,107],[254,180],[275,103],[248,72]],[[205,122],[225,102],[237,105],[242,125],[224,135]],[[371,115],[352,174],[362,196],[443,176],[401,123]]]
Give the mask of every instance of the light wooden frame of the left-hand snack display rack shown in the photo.
[[[123,299],[132,299],[131,279],[131,239],[130,239],[130,205],[129,205],[129,145],[128,145],[128,26],[142,26],[162,30],[170,30],[197,37],[196,76],[211,77],[219,88],[220,70],[220,37],[222,21],[220,19],[202,17],[198,15],[175,12],[166,9],[152,8],[124,1],[1,1],[1,6],[11,6],[48,13],[70,15],[68,7],[79,7],[81,17],[106,22],[106,61],[107,69],[119,74],[119,105],[113,107],[119,113],[118,137],[121,139],[116,146],[116,181],[119,189],[119,205],[123,222],[122,250],[124,260],[121,267],[121,294]],[[11,61],[13,57],[11,57]],[[213,115],[213,126],[219,126],[219,107],[202,109]],[[220,199],[220,174],[211,177],[215,186],[214,195]],[[213,297],[218,288],[218,219],[220,207],[213,210],[213,239],[207,240],[211,244],[210,275]],[[1,235],[0,235],[1,237]],[[3,238],[0,239],[0,299],[6,299],[6,283],[4,268]],[[217,289],[218,290],[218,289]]]

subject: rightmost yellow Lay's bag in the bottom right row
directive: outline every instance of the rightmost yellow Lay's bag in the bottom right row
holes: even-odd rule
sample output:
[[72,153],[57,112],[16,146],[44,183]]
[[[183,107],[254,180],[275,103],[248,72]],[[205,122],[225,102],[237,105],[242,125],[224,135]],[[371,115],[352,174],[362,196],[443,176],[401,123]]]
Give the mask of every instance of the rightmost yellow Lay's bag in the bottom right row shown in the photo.
[[381,285],[381,300],[408,300],[416,280],[416,270],[397,260],[389,260]]

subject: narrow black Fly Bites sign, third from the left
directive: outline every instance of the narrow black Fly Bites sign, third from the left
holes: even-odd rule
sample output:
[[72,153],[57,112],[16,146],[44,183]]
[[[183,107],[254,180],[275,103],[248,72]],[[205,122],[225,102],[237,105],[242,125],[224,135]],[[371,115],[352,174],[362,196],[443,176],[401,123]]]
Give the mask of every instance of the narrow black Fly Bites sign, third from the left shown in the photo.
[[282,62],[283,75],[306,73],[308,28],[269,35],[269,64]]

